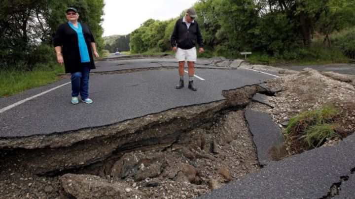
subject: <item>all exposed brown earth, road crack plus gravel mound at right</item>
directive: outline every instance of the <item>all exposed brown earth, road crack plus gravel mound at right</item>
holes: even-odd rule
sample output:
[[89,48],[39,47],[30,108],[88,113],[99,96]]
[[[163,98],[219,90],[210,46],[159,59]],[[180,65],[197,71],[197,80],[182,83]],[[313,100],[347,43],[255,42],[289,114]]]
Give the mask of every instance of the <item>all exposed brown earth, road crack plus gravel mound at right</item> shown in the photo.
[[[250,67],[250,66],[248,66]],[[253,66],[252,66],[253,67]],[[284,128],[304,110],[333,104],[337,122],[355,131],[351,81],[272,68],[266,82],[274,108],[252,102],[257,86],[225,91],[225,101],[66,135],[0,142],[0,198],[193,198],[260,170],[246,108]],[[343,79],[346,80],[346,79]],[[341,140],[329,140],[327,146]],[[16,147],[17,146],[17,147]]]

